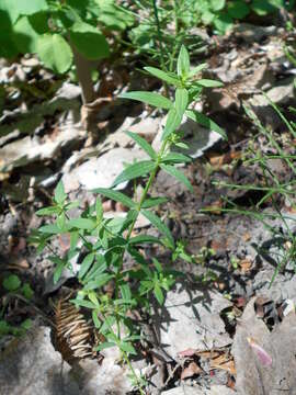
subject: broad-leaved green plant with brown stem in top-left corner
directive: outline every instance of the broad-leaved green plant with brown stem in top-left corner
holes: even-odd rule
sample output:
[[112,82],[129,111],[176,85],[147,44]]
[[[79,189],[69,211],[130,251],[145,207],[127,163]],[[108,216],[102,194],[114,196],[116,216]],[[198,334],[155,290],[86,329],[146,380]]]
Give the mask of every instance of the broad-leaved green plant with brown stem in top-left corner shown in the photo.
[[102,29],[124,30],[130,23],[113,0],[0,0],[0,56],[37,54],[57,74],[75,63],[84,103],[94,99],[91,61],[110,55]]

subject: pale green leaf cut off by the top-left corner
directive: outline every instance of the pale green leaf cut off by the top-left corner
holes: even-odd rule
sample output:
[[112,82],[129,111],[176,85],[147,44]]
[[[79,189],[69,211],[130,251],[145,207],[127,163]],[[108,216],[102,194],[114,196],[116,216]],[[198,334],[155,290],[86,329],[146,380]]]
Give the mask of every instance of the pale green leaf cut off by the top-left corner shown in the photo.
[[14,23],[21,15],[32,15],[48,10],[48,5],[46,0],[1,0],[0,10],[5,11]]

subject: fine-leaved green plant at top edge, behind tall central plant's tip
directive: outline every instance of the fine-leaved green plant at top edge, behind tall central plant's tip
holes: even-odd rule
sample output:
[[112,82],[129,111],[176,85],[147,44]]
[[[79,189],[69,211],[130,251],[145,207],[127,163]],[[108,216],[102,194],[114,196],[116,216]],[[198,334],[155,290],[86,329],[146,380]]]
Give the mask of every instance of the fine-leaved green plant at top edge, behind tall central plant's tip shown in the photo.
[[182,44],[190,54],[205,48],[201,37],[191,34],[194,21],[189,16],[187,0],[161,1],[136,0],[135,20],[129,32],[136,52],[159,64],[163,71],[173,71]]

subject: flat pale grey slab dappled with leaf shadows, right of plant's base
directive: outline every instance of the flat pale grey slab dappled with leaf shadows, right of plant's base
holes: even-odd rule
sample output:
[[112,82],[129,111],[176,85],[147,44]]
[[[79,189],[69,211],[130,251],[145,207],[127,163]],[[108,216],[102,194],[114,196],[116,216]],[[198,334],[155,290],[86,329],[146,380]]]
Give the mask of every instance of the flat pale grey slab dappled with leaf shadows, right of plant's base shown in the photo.
[[218,292],[178,283],[168,292],[164,305],[155,307],[152,316],[161,350],[178,360],[186,349],[204,351],[231,343],[220,318],[221,311],[229,306],[231,303]]

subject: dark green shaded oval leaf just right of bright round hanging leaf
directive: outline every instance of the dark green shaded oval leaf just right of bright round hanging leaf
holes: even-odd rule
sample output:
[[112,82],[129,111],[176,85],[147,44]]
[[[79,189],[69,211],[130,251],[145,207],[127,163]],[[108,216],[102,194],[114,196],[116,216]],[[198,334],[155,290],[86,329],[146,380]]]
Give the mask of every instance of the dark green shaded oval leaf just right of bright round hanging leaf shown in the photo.
[[98,27],[77,21],[69,29],[70,41],[77,50],[89,60],[98,60],[110,55],[109,44]]

